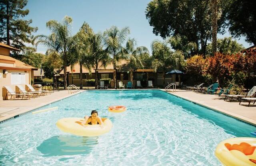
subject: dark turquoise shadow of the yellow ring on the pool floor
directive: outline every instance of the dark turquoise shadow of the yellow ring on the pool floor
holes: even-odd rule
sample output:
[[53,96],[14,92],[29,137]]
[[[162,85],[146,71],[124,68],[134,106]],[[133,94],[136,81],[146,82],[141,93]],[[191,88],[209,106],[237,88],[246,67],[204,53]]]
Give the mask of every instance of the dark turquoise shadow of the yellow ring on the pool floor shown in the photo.
[[45,157],[89,154],[96,144],[98,144],[98,137],[63,135],[44,140],[36,149]]

